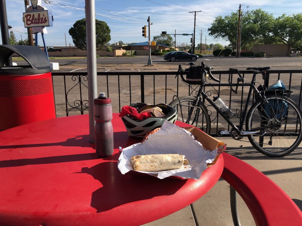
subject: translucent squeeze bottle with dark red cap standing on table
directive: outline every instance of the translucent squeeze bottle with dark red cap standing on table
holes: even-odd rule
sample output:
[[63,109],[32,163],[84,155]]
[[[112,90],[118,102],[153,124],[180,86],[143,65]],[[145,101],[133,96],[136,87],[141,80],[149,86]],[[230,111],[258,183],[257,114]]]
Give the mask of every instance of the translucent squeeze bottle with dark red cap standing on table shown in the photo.
[[109,157],[113,153],[113,127],[111,99],[105,93],[99,93],[94,99],[95,119],[95,152],[101,158]]

